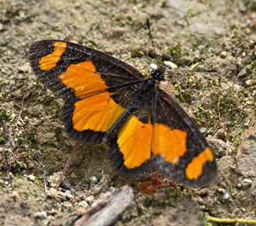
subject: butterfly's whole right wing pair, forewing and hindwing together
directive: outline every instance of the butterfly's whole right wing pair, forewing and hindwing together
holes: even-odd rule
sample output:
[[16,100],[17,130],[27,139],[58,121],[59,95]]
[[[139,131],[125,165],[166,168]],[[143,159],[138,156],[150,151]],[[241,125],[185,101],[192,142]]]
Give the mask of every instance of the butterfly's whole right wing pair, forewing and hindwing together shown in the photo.
[[159,88],[147,98],[150,107],[145,108],[142,101],[137,109],[144,110],[146,120],[134,112],[112,140],[111,159],[116,169],[133,174],[153,165],[180,184],[209,185],[216,176],[216,164],[197,125]]

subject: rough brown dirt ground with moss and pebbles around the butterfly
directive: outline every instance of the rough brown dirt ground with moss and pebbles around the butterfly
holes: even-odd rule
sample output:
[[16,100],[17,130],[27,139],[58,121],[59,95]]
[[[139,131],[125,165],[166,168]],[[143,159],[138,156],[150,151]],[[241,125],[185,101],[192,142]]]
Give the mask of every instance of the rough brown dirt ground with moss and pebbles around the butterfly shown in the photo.
[[[74,141],[61,121],[63,102],[30,69],[34,41],[74,41],[150,72],[151,19],[157,53],[179,67],[176,98],[213,146],[218,181],[153,194],[114,176],[106,147],[83,147],[66,178],[52,186]],[[128,184],[135,200],[114,225],[215,225],[207,215],[256,218],[255,0],[0,0],[0,224],[72,225],[111,186]],[[46,186],[46,187],[45,187]],[[219,224],[221,225],[221,224]],[[237,224],[238,225],[238,224]]]

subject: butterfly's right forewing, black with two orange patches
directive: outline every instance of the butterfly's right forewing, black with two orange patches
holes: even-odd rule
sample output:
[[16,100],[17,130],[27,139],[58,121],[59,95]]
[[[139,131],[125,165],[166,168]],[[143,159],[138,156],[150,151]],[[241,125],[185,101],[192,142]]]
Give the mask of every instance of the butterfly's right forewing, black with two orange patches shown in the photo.
[[197,124],[169,94],[158,89],[152,162],[177,183],[209,185],[216,177],[213,152]]

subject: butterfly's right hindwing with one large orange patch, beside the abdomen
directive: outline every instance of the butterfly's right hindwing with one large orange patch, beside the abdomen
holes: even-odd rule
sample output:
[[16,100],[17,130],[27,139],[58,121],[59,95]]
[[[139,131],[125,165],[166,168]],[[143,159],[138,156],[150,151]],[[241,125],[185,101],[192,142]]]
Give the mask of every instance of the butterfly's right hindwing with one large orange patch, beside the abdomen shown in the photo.
[[147,92],[136,103],[128,120],[111,141],[110,156],[114,167],[122,173],[131,175],[152,169],[151,109],[154,93]]

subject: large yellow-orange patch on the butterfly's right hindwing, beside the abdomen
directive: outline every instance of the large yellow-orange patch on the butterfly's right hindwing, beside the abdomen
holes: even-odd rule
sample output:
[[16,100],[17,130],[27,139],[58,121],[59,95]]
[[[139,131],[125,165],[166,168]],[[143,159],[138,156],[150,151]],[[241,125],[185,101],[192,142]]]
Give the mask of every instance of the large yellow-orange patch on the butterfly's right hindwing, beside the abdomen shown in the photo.
[[151,158],[152,125],[144,124],[136,117],[129,117],[120,129],[117,143],[128,169],[140,167]]

